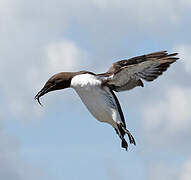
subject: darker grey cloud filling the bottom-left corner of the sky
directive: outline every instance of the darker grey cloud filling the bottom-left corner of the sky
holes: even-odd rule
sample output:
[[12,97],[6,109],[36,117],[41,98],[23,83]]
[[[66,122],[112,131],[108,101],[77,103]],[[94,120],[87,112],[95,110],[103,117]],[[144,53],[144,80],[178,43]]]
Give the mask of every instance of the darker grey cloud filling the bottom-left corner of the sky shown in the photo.
[[20,156],[20,143],[0,127],[0,179],[44,179],[44,171],[28,165]]

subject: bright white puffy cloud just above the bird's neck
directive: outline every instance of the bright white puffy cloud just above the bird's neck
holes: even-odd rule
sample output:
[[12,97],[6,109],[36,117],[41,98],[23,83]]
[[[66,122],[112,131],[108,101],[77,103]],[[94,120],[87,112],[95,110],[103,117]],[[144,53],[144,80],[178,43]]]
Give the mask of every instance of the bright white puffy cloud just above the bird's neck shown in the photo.
[[48,45],[47,66],[50,72],[77,71],[88,64],[88,53],[77,47],[75,42],[65,40]]

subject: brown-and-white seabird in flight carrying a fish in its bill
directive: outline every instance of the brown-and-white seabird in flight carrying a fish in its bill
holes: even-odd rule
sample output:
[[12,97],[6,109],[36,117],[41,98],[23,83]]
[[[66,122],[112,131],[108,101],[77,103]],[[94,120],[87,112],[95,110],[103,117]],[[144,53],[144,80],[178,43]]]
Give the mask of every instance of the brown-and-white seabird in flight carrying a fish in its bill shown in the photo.
[[39,98],[48,92],[73,88],[90,113],[100,122],[110,124],[121,139],[121,146],[127,150],[129,142],[136,145],[134,137],[127,129],[120,103],[114,93],[127,91],[137,86],[143,87],[143,81],[153,81],[162,75],[179,58],[178,53],[167,51],[154,52],[142,56],[117,61],[106,73],[95,74],[89,71],[61,72],[53,75],[35,96]]

